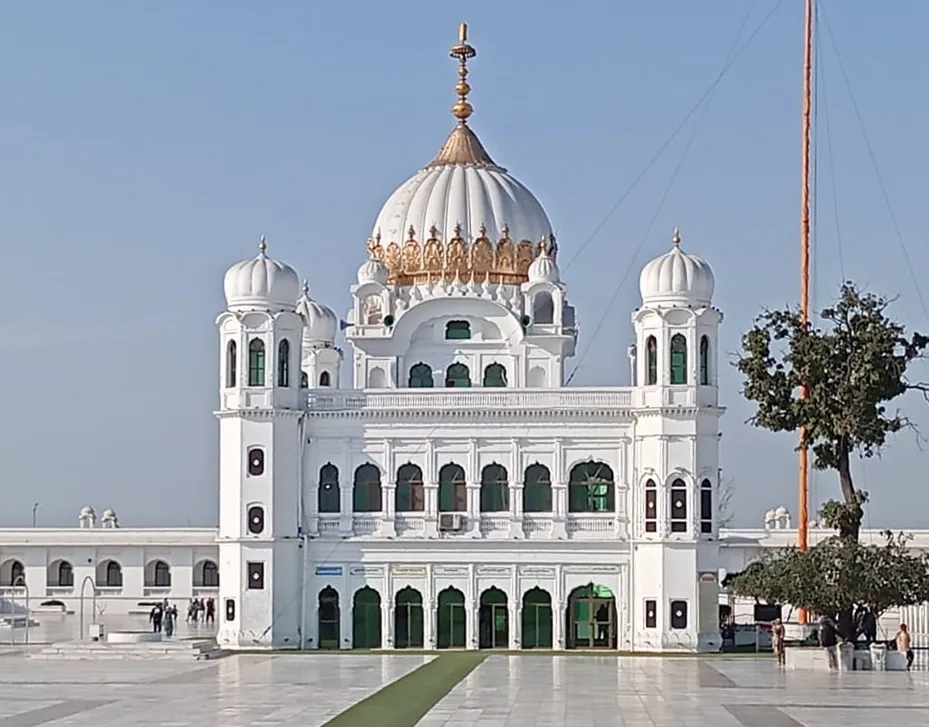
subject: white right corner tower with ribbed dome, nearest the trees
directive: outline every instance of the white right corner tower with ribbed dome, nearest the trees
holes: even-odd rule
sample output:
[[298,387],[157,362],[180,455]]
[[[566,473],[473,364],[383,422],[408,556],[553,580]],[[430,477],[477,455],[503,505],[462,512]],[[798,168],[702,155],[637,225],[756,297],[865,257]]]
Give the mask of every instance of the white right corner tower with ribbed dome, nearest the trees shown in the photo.
[[632,517],[634,648],[718,647],[717,333],[710,266],[681,250],[648,263],[639,287]]

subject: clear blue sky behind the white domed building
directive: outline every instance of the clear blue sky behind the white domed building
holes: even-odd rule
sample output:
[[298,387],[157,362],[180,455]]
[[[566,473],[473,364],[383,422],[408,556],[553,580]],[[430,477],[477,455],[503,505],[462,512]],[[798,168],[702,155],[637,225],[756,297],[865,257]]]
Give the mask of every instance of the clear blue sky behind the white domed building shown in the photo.
[[[821,4],[925,271],[929,3]],[[73,524],[84,504],[116,508],[126,524],[215,523],[223,272],[265,233],[344,315],[380,205],[452,126],[447,51],[460,21],[478,49],[472,125],[542,200],[564,264],[710,86],[746,11],[739,45],[776,5],[481,0],[465,17],[434,0],[5,3],[0,524],[28,524],[35,501],[46,525]],[[822,32],[842,254],[821,114],[815,299],[833,295],[844,269],[898,295],[895,313],[927,331]],[[628,383],[638,272],[675,225],[715,268],[726,351],[760,307],[796,300],[801,42],[802,2],[786,0],[702,123],[701,109],[564,270],[583,326],[575,383]],[[795,510],[792,438],[744,424],[736,372],[722,385],[737,522]],[[904,407],[929,435],[927,405]],[[870,524],[929,525],[926,463],[907,433],[857,468]],[[815,477],[817,499],[836,492],[833,475]]]

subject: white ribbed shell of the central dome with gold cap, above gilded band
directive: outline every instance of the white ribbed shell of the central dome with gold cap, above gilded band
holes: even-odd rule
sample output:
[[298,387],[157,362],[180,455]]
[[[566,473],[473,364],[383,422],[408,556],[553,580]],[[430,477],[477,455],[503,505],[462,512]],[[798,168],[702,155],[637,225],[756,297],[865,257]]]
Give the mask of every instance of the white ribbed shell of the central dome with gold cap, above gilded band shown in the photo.
[[[460,225],[460,229],[458,226]],[[537,243],[550,238],[552,224],[539,200],[503,167],[494,164],[470,127],[461,123],[436,158],[390,195],[373,236],[387,246],[402,245],[410,230],[425,240],[435,227],[442,241],[482,236],[496,239],[506,227],[510,239]]]

